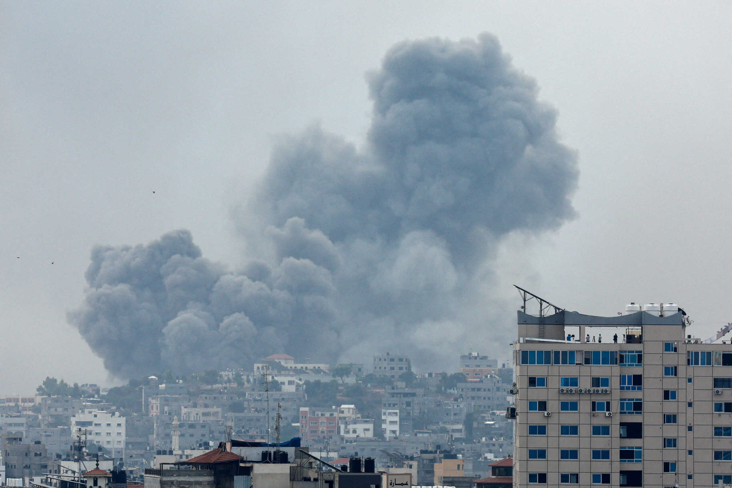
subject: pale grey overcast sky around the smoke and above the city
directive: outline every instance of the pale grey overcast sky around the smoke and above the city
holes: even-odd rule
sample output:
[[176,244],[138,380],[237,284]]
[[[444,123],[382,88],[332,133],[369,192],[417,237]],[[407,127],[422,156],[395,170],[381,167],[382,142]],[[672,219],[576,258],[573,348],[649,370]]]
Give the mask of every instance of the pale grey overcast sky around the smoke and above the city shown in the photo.
[[230,215],[277,136],[320,121],[360,145],[386,50],[482,32],[559,110],[580,168],[574,221],[504,242],[512,309],[513,283],[595,315],[675,301],[711,335],[732,321],[732,4],[579,6],[1,3],[0,392],[108,381],[66,322],[94,244],[187,228],[239,266]]

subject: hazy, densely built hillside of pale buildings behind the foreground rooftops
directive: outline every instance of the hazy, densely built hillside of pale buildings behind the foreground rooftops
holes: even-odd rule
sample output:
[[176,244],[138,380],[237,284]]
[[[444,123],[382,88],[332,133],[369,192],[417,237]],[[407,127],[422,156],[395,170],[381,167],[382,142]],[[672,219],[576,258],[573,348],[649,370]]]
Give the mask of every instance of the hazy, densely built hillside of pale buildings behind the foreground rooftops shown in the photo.
[[415,372],[409,357],[386,352],[335,367],[273,354],[251,371],[165,371],[114,388],[46,378],[35,395],[2,397],[2,480],[65,486],[80,462],[91,469],[98,458],[142,484],[146,468],[222,442],[299,438],[331,465],[373,459],[415,484],[470,487],[512,455],[512,376],[505,362],[475,352],[460,356],[459,372]]

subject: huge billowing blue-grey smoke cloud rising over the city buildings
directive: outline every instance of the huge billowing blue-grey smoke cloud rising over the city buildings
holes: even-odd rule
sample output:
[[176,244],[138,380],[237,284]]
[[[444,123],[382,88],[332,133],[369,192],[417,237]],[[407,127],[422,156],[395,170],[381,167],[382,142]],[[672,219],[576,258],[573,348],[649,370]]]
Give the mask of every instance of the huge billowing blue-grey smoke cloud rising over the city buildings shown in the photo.
[[275,352],[400,350],[426,365],[490,341],[477,290],[496,243],[573,215],[578,173],[556,113],[488,34],[402,42],[367,78],[362,148],[318,126],[276,144],[236,214],[253,259],[242,271],[202,258],[187,230],[92,251],[70,321],[113,375]]

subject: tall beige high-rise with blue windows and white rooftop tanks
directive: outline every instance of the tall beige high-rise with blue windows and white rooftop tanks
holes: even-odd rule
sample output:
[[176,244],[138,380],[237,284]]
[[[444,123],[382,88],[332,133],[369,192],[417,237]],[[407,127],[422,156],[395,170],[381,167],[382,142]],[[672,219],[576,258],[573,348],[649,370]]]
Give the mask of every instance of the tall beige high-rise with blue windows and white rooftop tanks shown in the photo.
[[691,337],[677,306],[640,309],[518,312],[515,487],[732,482],[732,345]]

